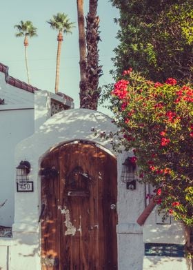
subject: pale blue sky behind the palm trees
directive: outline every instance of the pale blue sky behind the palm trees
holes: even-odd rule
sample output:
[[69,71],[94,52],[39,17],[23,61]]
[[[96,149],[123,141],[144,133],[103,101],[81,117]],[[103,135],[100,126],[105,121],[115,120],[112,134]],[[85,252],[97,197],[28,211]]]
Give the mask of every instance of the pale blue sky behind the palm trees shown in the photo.
[[[88,0],[85,0],[85,14],[88,12]],[[59,91],[74,98],[75,107],[79,107],[79,44],[77,27],[76,0],[6,0],[0,10],[1,50],[0,62],[8,65],[9,74],[27,82],[24,61],[23,38],[16,38],[14,25],[21,20],[30,20],[38,28],[38,37],[29,40],[28,61],[31,84],[41,90],[54,92],[55,66],[57,56],[57,32],[46,23],[53,14],[65,12],[75,22],[72,34],[66,35],[62,44]],[[112,8],[108,0],[99,0],[98,14],[101,19],[102,42],[99,43],[103,76],[100,85],[112,82],[109,71],[112,69],[111,57],[118,44],[116,33],[118,26],[113,18],[119,17],[119,11]],[[99,110],[103,111],[102,107]]]

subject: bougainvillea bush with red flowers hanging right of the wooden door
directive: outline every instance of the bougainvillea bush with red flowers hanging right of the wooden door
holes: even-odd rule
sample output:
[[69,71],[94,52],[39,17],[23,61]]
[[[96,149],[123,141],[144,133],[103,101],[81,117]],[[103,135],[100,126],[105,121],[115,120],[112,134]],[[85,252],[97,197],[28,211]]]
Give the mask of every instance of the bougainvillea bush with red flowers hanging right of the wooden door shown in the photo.
[[193,225],[193,90],[169,78],[146,81],[132,69],[108,89],[121,144],[133,149],[139,178],[154,186],[166,215]]

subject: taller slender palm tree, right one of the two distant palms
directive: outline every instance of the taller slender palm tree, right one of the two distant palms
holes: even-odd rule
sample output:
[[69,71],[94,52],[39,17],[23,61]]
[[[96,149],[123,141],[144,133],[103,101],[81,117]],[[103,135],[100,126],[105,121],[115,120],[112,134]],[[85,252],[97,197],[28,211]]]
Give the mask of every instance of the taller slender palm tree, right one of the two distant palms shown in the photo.
[[68,19],[68,15],[64,13],[57,13],[53,15],[50,21],[47,21],[50,24],[50,27],[58,31],[57,41],[57,67],[56,67],[56,80],[55,80],[55,93],[59,91],[59,66],[60,66],[60,57],[61,57],[61,43],[63,41],[63,33],[71,34],[74,23],[71,23]]

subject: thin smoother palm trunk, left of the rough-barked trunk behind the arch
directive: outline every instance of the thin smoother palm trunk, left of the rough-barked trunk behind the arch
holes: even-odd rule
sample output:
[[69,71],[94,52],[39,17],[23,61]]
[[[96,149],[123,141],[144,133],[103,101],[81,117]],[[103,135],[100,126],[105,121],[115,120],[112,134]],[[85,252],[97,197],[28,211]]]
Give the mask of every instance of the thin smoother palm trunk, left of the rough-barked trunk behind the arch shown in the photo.
[[83,0],[77,0],[77,15],[79,25],[79,54],[80,54],[80,107],[82,107],[83,96],[86,90],[86,45],[85,45],[85,23],[83,12]]

